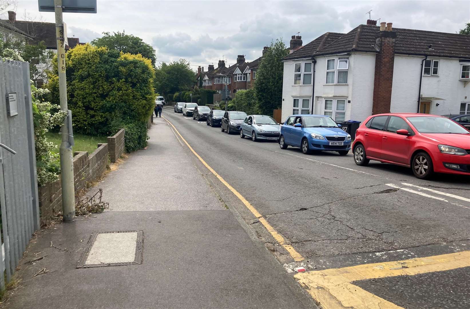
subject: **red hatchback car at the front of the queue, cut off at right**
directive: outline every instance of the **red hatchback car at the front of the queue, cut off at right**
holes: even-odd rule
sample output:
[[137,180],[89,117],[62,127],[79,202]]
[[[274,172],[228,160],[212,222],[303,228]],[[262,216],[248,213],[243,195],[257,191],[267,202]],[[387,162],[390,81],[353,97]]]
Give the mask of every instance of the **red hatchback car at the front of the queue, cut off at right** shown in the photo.
[[369,160],[411,167],[416,177],[433,173],[470,175],[470,131],[446,117],[378,114],[356,131],[354,162]]

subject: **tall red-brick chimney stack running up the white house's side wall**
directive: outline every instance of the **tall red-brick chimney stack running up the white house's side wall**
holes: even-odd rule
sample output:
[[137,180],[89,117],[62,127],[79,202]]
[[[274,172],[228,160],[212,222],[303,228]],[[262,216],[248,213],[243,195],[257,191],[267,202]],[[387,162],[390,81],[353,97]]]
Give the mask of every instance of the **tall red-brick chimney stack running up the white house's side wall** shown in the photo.
[[[376,33],[376,67],[374,75],[374,96],[372,99],[372,115],[390,112],[392,100],[393,62],[395,60],[395,38],[392,23],[380,23],[380,31]],[[390,30],[387,30],[390,29]]]

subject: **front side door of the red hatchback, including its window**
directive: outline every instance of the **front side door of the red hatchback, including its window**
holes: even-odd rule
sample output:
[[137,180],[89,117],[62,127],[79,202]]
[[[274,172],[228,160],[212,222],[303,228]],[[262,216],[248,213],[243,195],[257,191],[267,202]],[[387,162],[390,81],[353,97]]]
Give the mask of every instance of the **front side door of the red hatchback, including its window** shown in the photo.
[[[382,135],[382,159],[409,165],[409,151],[412,135],[399,135],[397,130],[405,129],[414,135],[411,127],[401,117],[390,116],[386,130]],[[367,151],[366,151],[367,153]]]

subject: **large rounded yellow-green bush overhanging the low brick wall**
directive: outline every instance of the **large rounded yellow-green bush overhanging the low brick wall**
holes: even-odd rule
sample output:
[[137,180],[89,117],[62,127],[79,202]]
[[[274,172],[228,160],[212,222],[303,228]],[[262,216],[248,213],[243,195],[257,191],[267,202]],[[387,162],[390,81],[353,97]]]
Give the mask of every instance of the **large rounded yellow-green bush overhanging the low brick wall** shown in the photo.
[[[155,69],[150,59],[86,44],[67,52],[65,60],[67,100],[75,132],[112,135],[118,127],[142,127],[149,119],[156,97]],[[53,72],[47,87],[51,103],[59,104],[57,64]],[[129,136],[139,144],[126,144],[126,148],[145,147],[146,134],[145,138]]]

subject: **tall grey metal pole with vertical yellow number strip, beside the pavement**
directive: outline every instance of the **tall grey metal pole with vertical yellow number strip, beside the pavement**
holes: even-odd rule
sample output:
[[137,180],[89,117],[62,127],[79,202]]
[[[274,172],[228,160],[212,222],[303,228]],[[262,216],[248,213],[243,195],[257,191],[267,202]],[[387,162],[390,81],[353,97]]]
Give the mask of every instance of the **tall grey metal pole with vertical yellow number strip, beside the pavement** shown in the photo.
[[[60,109],[67,111],[67,78],[65,75],[65,38],[63,31],[62,0],[54,0],[55,37],[57,40],[57,68],[59,74]],[[75,188],[73,183],[72,146],[69,142],[68,119],[62,124],[62,143],[60,144],[60,168],[62,179],[63,221],[75,218]]]

